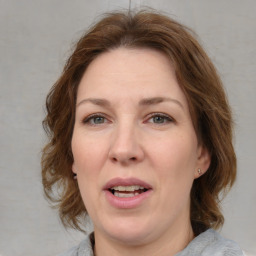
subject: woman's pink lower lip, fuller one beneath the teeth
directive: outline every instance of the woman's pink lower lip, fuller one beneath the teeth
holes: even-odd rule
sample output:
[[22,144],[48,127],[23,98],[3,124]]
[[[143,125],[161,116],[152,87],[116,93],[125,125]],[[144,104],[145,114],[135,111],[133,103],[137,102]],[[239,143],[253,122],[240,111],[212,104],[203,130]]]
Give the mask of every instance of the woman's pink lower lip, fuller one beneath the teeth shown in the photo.
[[105,190],[105,195],[108,202],[115,208],[131,209],[140,206],[151,194],[152,189],[147,190],[139,195],[133,197],[117,197],[109,190]]

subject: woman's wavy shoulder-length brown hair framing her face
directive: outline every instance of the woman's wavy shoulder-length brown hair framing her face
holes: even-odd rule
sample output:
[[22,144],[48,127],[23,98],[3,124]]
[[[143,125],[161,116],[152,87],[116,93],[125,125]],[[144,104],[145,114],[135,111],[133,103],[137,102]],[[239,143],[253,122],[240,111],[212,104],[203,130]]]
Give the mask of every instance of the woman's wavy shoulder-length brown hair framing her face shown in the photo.
[[236,177],[232,145],[232,119],[221,80],[195,36],[185,26],[153,12],[107,14],[76,44],[63,73],[46,100],[43,126],[49,143],[42,154],[42,179],[46,196],[56,203],[65,226],[81,230],[86,208],[73,179],[71,139],[76,94],[88,65],[102,52],[118,48],[152,48],[173,63],[191,111],[198,139],[210,152],[208,171],[191,190],[191,223],[195,234],[218,228],[224,218],[220,195]]

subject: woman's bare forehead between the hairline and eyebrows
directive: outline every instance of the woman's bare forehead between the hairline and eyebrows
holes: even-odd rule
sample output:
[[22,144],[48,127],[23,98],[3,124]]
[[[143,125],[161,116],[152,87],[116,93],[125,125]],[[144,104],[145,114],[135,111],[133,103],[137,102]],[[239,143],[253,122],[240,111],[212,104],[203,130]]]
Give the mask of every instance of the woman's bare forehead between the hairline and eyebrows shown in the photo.
[[78,88],[83,97],[176,97],[186,102],[170,60],[152,49],[118,48],[100,54]]

